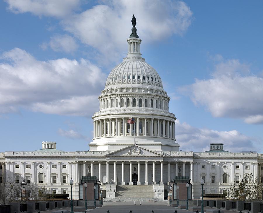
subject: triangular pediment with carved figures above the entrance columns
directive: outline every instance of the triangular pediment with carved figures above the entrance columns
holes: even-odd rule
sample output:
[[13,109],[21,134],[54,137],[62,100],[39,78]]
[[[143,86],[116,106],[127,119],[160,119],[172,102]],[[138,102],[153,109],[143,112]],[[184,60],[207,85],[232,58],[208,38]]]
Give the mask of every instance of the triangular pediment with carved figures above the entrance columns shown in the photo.
[[122,148],[120,150],[106,154],[105,156],[158,156],[163,155],[156,153],[152,150],[141,147],[137,144]]

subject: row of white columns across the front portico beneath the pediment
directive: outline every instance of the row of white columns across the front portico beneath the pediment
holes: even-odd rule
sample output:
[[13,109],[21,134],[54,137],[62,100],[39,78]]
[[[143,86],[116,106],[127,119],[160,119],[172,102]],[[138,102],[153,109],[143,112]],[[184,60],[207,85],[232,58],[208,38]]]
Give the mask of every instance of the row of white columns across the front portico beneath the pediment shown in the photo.
[[[169,180],[172,178],[172,171],[175,176],[179,176],[182,174],[182,176],[187,176],[186,175],[186,165],[189,166],[190,164],[190,178],[191,178],[191,183],[193,183],[193,161],[183,161],[183,162],[178,162],[178,161],[164,161],[160,159],[156,160],[141,160],[141,159],[134,159],[134,160],[101,160],[101,161],[78,161],[74,162],[76,165],[78,165],[78,169],[75,170],[75,178],[78,180],[79,178],[79,172],[81,168],[79,168],[80,165],[83,164],[83,176],[96,176],[96,171],[95,171],[95,165],[98,165],[98,170],[97,170],[97,175],[98,179],[106,184],[113,183],[113,184],[118,184],[119,182],[121,185],[126,185],[129,183],[130,185],[133,184],[132,181],[132,175],[135,173],[134,167],[137,165],[136,168],[136,174],[137,174],[137,185],[148,185],[149,183],[156,184],[157,182],[160,181],[161,184],[164,183],[164,179],[169,182]],[[183,164],[183,168],[179,169],[179,163],[180,165]],[[89,173],[86,172],[86,167],[88,165],[91,165],[89,169]],[[149,164],[151,165],[151,170],[149,171]],[[110,167],[111,165],[111,167]],[[120,180],[117,181],[117,165],[121,165],[121,176]],[[126,169],[125,169],[126,165]],[[106,167],[105,170],[102,170],[102,166]],[[158,169],[156,167],[158,166]],[[164,166],[166,167],[167,173],[164,174]],[[127,169],[129,167],[129,169]],[[171,169],[172,167],[172,169]],[[175,167],[175,170],[174,170]],[[144,169],[144,176],[141,175],[141,171]],[[181,171],[183,170],[183,171]],[[103,175],[104,174],[104,175]],[[111,175],[110,175],[111,174]],[[152,174],[152,179],[149,179],[149,175],[151,176]],[[156,174],[158,174],[158,177],[160,179],[156,180]],[[105,177],[103,180],[103,176]],[[128,181],[125,181],[128,179]],[[113,180],[110,181],[110,180]],[[144,181],[143,181],[144,180]]]

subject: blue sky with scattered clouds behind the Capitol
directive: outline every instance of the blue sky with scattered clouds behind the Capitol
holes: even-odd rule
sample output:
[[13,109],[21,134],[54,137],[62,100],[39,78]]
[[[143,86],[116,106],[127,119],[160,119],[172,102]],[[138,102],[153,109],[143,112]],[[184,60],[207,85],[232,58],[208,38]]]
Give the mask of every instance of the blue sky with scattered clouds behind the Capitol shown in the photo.
[[91,116],[126,56],[141,52],[171,97],[182,150],[263,152],[262,1],[1,1],[1,152],[89,150]]

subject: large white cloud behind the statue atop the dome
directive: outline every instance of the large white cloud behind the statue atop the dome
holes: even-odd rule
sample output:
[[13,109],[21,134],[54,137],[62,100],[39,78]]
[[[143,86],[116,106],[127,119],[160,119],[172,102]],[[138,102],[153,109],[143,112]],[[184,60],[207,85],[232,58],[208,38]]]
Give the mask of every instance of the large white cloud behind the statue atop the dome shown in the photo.
[[[131,32],[131,16],[136,11],[137,33],[143,42],[161,40],[172,34],[182,35],[192,22],[192,11],[181,1],[109,1],[62,20],[65,30],[82,43],[119,58],[126,50]],[[116,59],[115,59],[116,60]]]

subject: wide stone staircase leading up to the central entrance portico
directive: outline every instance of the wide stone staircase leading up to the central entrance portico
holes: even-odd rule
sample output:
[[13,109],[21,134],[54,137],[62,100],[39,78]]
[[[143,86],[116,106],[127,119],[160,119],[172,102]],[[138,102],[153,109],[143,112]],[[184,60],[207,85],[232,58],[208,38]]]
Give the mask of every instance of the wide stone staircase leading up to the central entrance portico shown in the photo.
[[114,200],[153,200],[152,185],[117,185]]

